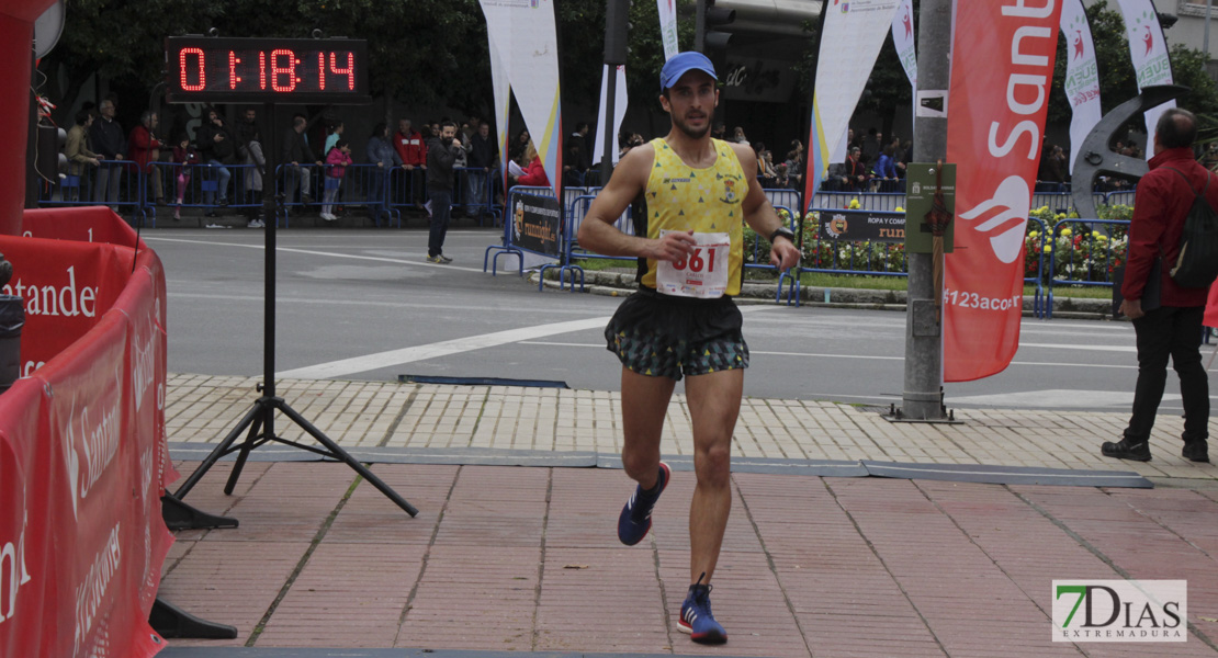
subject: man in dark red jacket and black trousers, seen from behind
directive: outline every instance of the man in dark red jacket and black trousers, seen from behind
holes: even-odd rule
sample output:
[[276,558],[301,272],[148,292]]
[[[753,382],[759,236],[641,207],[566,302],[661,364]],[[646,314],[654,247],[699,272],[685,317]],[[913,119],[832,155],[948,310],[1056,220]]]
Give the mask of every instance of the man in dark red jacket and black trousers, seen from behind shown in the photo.
[[[1167,358],[1180,377],[1184,404],[1184,450],[1192,461],[1209,461],[1209,378],[1201,365],[1201,320],[1208,288],[1185,288],[1170,276],[1180,254],[1184,219],[1196,195],[1218,207],[1218,180],[1192,157],[1197,122],[1191,112],[1172,108],[1155,126],[1155,157],[1150,171],[1138,182],[1134,216],[1129,221],[1129,252],[1121,286],[1121,313],[1129,316],[1138,334],[1138,384],[1133,416],[1124,437],[1106,442],[1106,457],[1150,461],[1150,431],[1167,384]],[[1208,186],[1207,186],[1208,182]],[[1147,279],[1162,257],[1158,305],[1144,308]],[[1153,286],[1153,283],[1150,283]]]

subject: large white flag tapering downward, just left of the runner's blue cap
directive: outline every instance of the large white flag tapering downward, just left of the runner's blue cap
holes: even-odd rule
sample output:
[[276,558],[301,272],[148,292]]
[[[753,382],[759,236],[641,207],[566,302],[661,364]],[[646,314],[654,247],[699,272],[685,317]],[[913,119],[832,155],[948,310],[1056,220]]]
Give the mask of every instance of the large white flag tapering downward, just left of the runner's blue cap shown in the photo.
[[520,114],[557,195],[563,170],[563,130],[554,0],[479,1],[491,45],[508,73]]

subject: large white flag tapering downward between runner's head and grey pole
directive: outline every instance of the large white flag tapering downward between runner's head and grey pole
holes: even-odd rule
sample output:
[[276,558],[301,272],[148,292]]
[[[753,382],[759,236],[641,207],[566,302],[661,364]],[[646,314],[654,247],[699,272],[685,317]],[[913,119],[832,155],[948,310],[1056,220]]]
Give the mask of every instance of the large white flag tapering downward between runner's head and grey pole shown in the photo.
[[812,126],[808,139],[812,170],[806,178],[804,198],[809,202],[825,178],[833,150],[842,144],[850,125],[850,116],[876,66],[898,4],[899,0],[826,0],[821,10],[828,13],[816,64]]

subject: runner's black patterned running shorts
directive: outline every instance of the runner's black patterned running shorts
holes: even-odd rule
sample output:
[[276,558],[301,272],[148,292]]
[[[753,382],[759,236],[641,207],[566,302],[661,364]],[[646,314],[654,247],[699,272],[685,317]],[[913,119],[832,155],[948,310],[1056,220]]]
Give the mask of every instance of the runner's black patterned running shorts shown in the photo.
[[691,299],[643,288],[626,298],[609,321],[605,349],[631,372],[681,381],[749,367],[741,325],[731,297]]

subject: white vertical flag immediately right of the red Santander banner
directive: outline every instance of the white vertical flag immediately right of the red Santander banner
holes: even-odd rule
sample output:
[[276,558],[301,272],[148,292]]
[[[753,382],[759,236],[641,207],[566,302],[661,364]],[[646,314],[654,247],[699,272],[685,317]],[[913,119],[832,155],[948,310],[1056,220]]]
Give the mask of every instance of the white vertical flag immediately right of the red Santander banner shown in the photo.
[[1100,71],[1095,66],[1095,44],[1086,22],[1083,0],[1062,4],[1062,35],[1066,36],[1066,97],[1074,114],[1069,122],[1069,171],[1074,173],[1083,141],[1102,118]]

